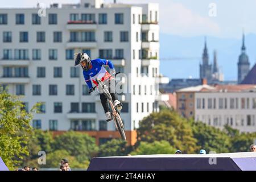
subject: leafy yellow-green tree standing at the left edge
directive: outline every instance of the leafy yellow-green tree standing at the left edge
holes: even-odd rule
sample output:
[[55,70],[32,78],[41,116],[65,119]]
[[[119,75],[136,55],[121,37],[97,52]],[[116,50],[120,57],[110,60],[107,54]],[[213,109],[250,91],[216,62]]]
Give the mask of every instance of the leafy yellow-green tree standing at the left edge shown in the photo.
[[0,88],[0,156],[9,169],[17,167],[28,155],[30,121],[36,106],[27,113],[20,97]]

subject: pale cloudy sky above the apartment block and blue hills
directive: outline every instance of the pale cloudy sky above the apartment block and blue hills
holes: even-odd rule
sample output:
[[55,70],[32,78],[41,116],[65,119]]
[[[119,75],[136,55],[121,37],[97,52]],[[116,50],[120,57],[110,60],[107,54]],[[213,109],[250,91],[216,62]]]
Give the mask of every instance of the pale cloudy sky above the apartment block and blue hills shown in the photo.
[[[78,3],[79,0],[9,0],[0,1],[0,7],[35,7],[37,2]],[[113,2],[106,0],[105,2]],[[216,36],[219,38],[241,38],[256,32],[256,0],[117,0],[121,3],[160,4],[160,32],[180,36]],[[210,17],[209,3],[216,3],[217,16]]]

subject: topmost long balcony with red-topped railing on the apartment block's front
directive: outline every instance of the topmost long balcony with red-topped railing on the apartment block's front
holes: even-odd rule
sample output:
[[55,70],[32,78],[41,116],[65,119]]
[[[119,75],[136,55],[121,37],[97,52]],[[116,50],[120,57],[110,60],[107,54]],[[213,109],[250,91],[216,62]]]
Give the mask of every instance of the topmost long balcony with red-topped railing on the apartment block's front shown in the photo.
[[96,30],[97,23],[93,21],[69,21],[67,23],[68,30]]

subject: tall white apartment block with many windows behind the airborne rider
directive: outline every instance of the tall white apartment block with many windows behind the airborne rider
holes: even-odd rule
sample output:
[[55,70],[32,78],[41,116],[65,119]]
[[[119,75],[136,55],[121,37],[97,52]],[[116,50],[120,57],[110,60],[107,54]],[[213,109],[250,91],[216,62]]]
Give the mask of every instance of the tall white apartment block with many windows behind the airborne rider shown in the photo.
[[81,0],[53,4],[42,9],[45,16],[38,16],[39,9],[0,9],[0,84],[23,95],[27,109],[43,102],[32,126],[86,131],[104,143],[119,134],[113,122],[106,123],[98,94],[88,94],[73,53],[112,60],[126,75],[118,97],[128,143],[134,144],[139,121],[168,100],[158,90],[159,82],[168,82],[159,78],[159,5]]

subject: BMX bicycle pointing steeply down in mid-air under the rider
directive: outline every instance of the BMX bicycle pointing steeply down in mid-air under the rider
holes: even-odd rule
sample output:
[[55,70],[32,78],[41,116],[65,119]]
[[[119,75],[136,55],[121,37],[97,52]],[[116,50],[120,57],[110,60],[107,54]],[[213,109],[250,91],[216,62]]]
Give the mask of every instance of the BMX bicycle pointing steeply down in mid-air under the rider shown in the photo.
[[[116,75],[118,75],[120,72],[116,73]],[[126,140],[126,135],[125,135],[125,130],[124,130],[124,126],[123,126],[123,122],[122,119],[120,117],[120,113],[117,110],[117,107],[114,106],[114,102],[112,100],[112,96],[109,93],[108,87],[104,84],[104,82],[102,82],[100,79],[96,78],[96,82],[98,84],[98,89],[102,90],[102,92],[104,93],[104,95],[106,96],[106,98],[108,99],[109,105],[111,107],[111,112],[110,114],[112,115],[112,118],[114,120],[115,123],[115,128],[119,131],[121,137],[123,140]],[[94,86],[93,90],[96,89],[97,86]]]

